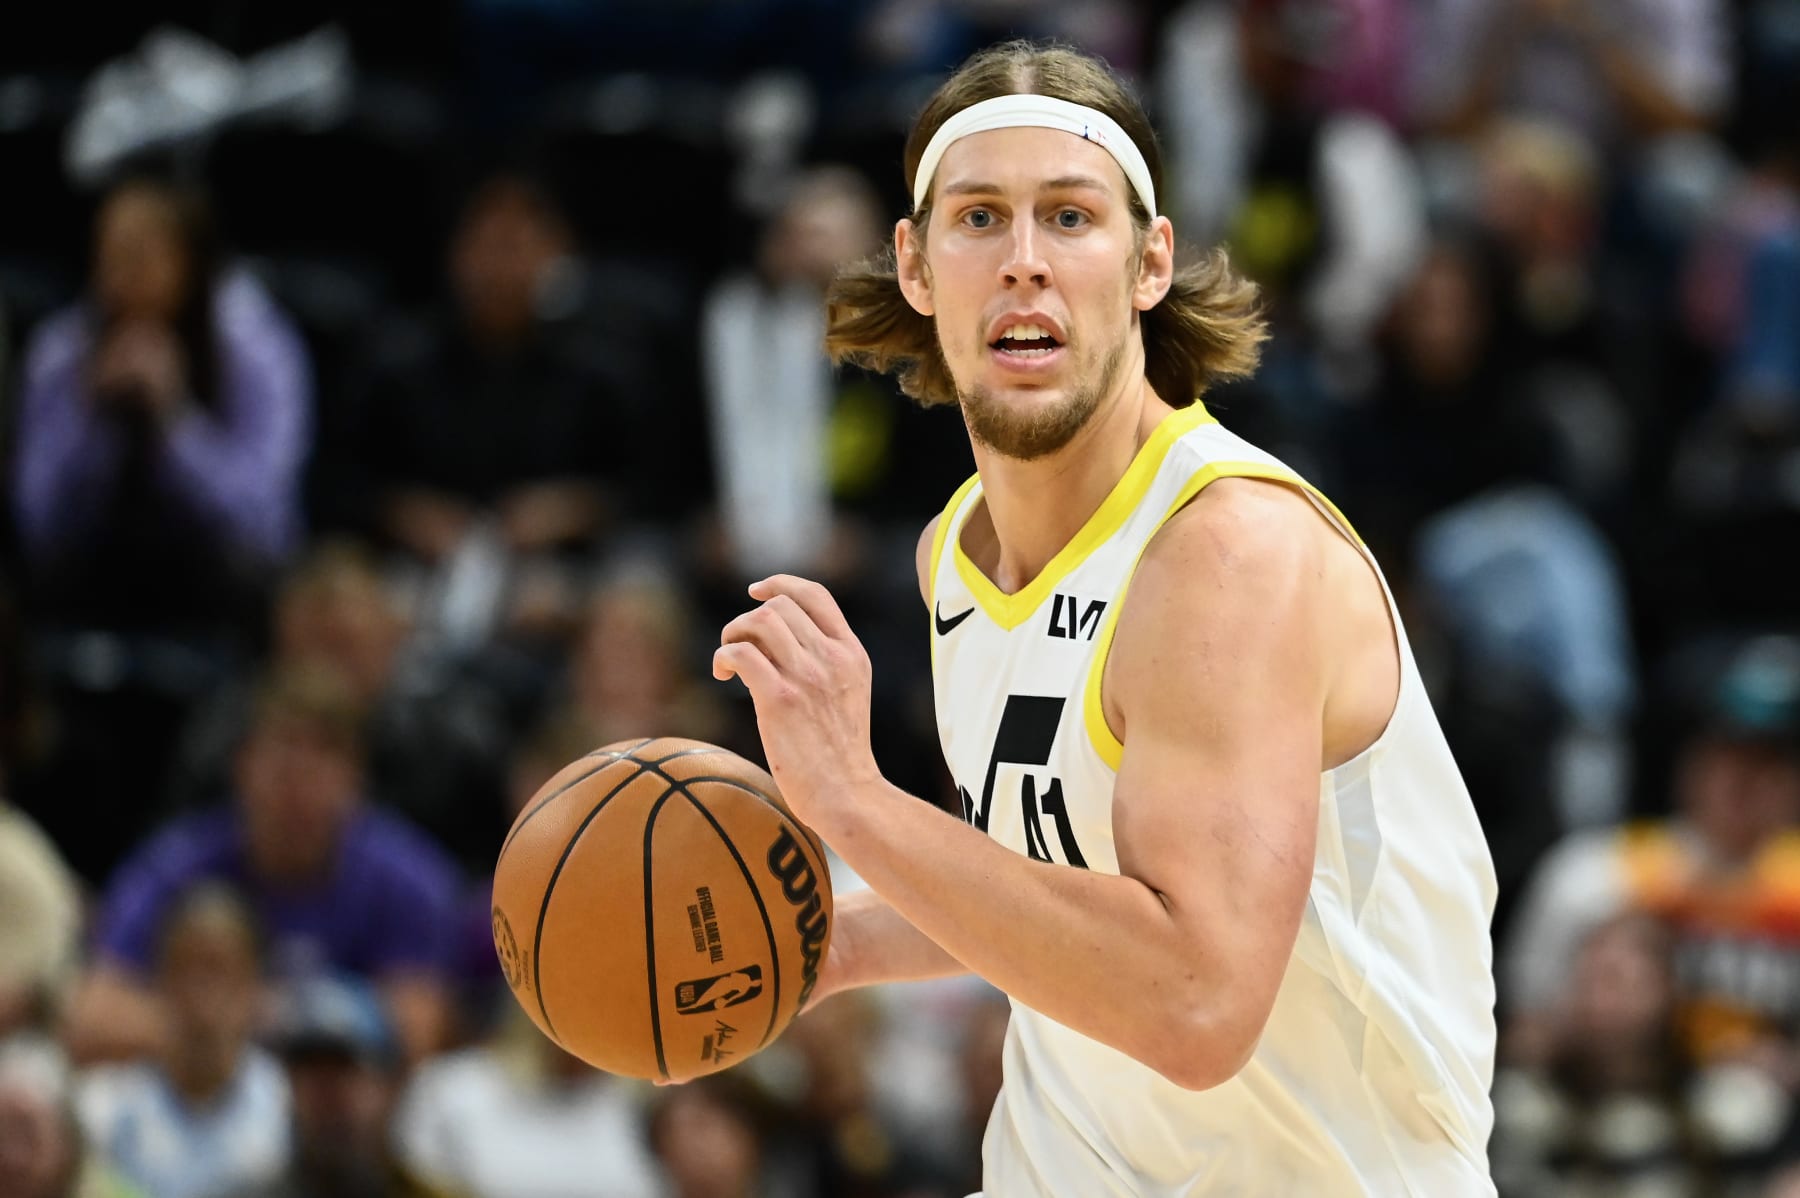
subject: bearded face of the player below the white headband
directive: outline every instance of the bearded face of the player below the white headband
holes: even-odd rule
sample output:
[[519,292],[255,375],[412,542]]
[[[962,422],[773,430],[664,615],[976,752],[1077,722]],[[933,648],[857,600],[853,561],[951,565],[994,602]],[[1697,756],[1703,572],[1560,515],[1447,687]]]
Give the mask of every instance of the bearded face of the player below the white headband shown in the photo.
[[923,245],[898,228],[907,299],[938,342],[977,441],[1053,453],[1143,376],[1138,313],[1168,290],[1168,221],[1139,236],[1129,183],[1100,146],[1058,130],[950,146]]

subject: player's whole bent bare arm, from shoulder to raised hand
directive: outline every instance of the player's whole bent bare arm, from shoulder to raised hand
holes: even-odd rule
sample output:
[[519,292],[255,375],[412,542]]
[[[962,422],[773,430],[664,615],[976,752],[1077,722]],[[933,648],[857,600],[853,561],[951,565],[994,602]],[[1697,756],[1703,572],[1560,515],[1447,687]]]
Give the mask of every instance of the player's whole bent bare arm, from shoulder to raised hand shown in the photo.
[[[1129,730],[1118,876],[1030,860],[889,786],[866,698],[862,725],[846,718],[823,592],[752,590],[769,599],[727,628],[720,662],[751,685],[796,813],[900,917],[1015,1000],[1206,1088],[1255,1049],[1312,874],[1321,536],[1305,500],[1255,484],[1202,493],[1152,541],[1107,675]],[[794,631],[799,604],[817,626]]]

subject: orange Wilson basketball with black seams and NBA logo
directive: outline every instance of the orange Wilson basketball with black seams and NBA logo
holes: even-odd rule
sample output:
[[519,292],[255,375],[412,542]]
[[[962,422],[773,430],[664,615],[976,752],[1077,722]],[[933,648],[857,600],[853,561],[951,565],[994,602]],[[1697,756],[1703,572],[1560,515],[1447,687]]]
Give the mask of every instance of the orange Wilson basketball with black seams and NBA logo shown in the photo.
[[824,849],[774,779],[675,738],[565,766],[513,822],[493,948],[513,997],[589,1065],[684,1081],[772,1043],[832,941]]

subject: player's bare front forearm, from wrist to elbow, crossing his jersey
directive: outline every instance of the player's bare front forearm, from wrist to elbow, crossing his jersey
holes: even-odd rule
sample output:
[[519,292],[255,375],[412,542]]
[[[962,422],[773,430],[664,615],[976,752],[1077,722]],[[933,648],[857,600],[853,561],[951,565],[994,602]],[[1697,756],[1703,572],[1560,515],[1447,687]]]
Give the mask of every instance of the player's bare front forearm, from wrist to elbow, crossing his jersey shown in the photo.
[[1177,1085],[1217,1085],[1255,1047],[1220,962],[1134,878],[1033,862],[886,784],[815,829],[949,959]]

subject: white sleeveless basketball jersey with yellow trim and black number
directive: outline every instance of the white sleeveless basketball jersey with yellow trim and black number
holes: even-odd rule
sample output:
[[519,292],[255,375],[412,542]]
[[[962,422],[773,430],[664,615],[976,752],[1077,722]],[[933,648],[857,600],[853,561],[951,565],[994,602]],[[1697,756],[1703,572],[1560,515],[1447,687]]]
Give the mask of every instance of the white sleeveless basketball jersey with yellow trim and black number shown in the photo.
[[[1323,496],[1197,403],[1163,421],[1017,594],[961,550],[979,478],[945,507],[932,678],[968,822],[1017,853],[1118,872],[1123,747],[1100,709],[1112,621],[1150,536],[1224,477],[1300,487],[1361,547]],[[1013,1002],[983,1144],[986,1198],[1494,1193],[1494,867],[1393,619],[1399,703],[1375,745],[1319,775],[1310,896],[1255,1056],[1217,1088],[1183,1090]]]

